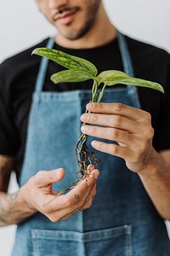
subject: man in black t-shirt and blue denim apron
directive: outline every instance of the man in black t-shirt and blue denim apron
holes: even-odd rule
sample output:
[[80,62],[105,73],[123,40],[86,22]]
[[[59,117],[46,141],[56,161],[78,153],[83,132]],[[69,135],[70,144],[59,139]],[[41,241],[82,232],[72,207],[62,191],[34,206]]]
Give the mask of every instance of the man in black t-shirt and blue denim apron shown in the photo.
[[[0,71],[0,215],[1,225],[19,224],[12,255],[169,255],[169,55],[116,32],[101,0],[37,5],[58,29],[54,40],[4,61]],[[88,103],[91,81],[54,86],[49,77],[62,67],[31,56],[37,47],[84,57],[99,72],[154,80],[165,95],[120,85],[105,91],[105,103]],[[74,180],[72,152],[85,107],[82,132],[102,159],[100,176],[88,166],[88,179],[57,197]],[[62,168],[38,172],[55,166]],[[7,195],[13,168],[20,190]]]

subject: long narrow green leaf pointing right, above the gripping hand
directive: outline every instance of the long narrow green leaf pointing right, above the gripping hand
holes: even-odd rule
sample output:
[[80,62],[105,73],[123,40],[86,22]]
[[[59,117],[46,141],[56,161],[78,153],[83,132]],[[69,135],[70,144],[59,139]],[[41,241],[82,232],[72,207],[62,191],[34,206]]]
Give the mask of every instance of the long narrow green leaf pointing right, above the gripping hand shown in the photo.
[[97,77],[99,79],[99,84],[104,83],[108,86],[115,84],[127,84],[127,85],[136,85],[141,87],[148,87],[151,89],[159,90],[164,93],[163,87],[161,84],[151,82],[144,79],[136,79],[129,77],[126,73],[117,70],[107,70],[99,74]]

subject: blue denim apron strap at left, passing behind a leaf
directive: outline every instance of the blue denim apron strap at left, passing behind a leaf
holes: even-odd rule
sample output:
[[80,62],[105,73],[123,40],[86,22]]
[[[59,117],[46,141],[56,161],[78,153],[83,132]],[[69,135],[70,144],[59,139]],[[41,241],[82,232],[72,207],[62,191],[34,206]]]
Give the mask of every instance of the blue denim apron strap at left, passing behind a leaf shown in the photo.
[[[48,39],[48,44],[46,45],[46,47],[50,49],[54,47],[54,38]],[[42,57],[40,62],[40,68],[37,74],[37,81],[36,81],[36,87],[35,87],[36,92],[42,91],[47,69],[48,69],[48,58]]]

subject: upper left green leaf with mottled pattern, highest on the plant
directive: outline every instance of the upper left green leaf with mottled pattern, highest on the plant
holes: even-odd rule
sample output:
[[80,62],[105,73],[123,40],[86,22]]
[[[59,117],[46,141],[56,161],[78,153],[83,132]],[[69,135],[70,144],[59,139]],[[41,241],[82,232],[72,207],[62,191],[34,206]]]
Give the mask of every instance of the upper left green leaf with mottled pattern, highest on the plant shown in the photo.
[[98,73],[97,68],[90,61],[84,60],[74,55],[68,55],[65,52],[59,51],[57,49],[48,49],[48,48],[37,48],[32,51],[32,54],[40,55],[46,57],[51,61],[59,63],[61,66],[73,69],[73,70],[82,70],[96,76]]

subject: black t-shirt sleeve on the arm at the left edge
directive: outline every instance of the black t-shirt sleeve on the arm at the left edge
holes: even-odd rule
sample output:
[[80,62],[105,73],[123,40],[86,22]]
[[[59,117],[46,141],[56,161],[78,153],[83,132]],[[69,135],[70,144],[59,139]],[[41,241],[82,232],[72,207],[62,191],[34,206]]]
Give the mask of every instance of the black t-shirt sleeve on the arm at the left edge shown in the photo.
[[3,78],[3,67],[0,66],[0,154],[14,156],[19,147],[19,138],[12,106],[8,102],[8,83]]

